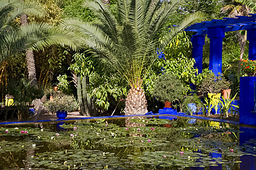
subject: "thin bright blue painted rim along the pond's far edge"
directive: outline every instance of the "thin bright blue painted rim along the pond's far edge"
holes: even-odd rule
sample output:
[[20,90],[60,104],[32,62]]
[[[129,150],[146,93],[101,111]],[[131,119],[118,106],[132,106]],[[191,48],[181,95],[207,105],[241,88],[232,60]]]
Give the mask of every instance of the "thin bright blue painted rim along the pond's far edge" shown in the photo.
[[188,117],[193,119],[199,119],[199,120],[209,120],[214,122],[224,122],[224,123],[230,123],[230,124],[239,124],[239,122],[232,121],[232,120],[220,120],[210,117],[201,117],[196,115],[186,115],[185,113],[177,113],[175,109],[172,108],[164,108],[160,109],[159,113],[146,113],[145,115],[113,115],[113,116],[98,116],[98,117],[77,117],[72,119],[56,119],[56,120],[37,120],[37,121],[21,121],[21,122],[0,122],[0,125],[5,124],[26,124],[26,123],[41,123],[41,122],[60,122],[60,121],[72,121],[72,120],[95,120],[95,119],[107,119],[107,118],[119,118],[119,117],[152,117],[152,116],[158,116],[161,119],[174,119],[176,117]]

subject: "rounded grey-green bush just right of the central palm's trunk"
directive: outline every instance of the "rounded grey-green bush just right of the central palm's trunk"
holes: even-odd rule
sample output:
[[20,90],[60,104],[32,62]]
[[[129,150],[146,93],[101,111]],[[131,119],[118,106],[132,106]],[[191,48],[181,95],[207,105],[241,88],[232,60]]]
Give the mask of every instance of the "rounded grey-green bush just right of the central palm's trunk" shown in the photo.
[[187,88],[177,77],[171,73],[164,73],[158,79],[154,87],[153,96],[161,102],[182,101]]

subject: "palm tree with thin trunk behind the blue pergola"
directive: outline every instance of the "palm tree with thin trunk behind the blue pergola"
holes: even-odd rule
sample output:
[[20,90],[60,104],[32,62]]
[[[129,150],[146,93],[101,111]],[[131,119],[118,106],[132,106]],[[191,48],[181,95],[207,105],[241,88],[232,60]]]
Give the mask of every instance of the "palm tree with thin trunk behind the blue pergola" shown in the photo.
[[[246,0],[247,1],[247,0]],[[235,18],[235,16],[248,16],[250,13],[250,8],[246,6],[243,0],[228,0],[227,5],[221,8],[222,12],[228,12],[228,17]],[[240,70],[241,59],[243,59],[244,55],[244,48],[246,46],[246,32],[244,35],[238,32],[239,35],[239,46],[240,46],[240,62],[238,66],[238,72]]]

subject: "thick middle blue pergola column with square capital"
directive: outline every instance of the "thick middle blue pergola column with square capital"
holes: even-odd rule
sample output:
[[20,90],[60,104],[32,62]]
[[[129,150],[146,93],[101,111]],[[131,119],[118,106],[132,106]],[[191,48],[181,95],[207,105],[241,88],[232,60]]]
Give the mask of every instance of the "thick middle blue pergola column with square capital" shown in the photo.
[[222,41],[225,37],[225,28],[208,28],[208,37],[210,38],[209,69],[218,75],[218,73],[222,73]]

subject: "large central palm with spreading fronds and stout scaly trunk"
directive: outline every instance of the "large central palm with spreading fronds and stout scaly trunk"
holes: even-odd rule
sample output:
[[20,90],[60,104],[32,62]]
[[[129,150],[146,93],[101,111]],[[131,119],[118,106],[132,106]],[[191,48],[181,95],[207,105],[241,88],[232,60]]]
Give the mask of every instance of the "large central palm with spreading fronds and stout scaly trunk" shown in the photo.
[[[93,10],[98,16],[97,21],[84,23],[66,19],[62,23],[63,28],[76,32],[104,62],[125,77],[131,87],[125,101],[126,115],[147,113],[143,79],[157,58],[156,47],[162,28],[182,3],[178,0],[120,0],[115,18],[102,1],[87,1],[84,6]],[[196,13],[172,27],[163,38],[163,46],[183,28],[201,18],[202,14]]]

